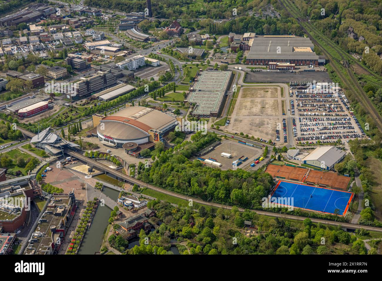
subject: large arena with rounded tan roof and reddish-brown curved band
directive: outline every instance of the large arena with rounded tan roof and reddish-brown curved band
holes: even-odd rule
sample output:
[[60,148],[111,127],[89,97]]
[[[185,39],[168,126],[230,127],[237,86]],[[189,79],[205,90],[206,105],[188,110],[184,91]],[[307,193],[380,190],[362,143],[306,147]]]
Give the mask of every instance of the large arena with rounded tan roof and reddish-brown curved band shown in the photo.
[[102,144],[122,147],[123,144],[162,141],[163,136],[178,124],[176,118],[147,107],[131,106],[110,116],[93,115],[93,125]]

